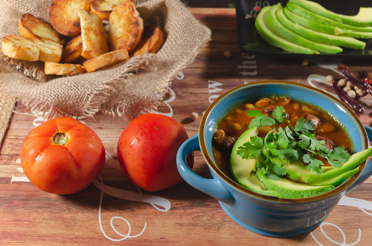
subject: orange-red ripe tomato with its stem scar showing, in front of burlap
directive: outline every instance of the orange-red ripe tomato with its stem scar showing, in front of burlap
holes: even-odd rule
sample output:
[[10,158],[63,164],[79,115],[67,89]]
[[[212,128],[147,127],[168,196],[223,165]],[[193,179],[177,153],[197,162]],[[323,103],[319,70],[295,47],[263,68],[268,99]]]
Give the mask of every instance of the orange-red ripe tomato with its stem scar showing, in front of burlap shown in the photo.
[[97,134],[79,121],[60,117],[31,130],[21,146],[24,173],[36,187],[70,194],[93,182],[105,164]]

